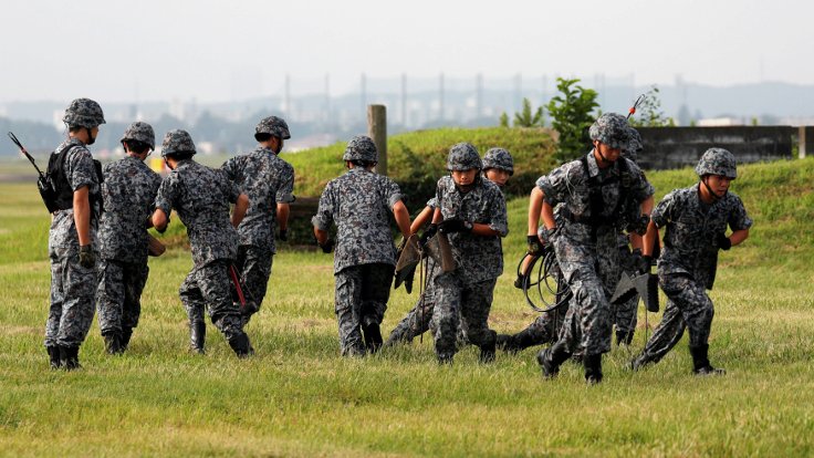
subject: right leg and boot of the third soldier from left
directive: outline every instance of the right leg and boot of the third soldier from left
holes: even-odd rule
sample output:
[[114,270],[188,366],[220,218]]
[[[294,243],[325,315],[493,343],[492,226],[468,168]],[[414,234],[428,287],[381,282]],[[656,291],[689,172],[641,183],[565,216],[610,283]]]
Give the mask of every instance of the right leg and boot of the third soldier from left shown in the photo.
[[199,269],[198,288],[215,327],[223,334],[238,357],[246,357],[253,354],[254,350],[243,332],[240,310],[232,302],[230,263],[227,260],[217,260],[202,266]]

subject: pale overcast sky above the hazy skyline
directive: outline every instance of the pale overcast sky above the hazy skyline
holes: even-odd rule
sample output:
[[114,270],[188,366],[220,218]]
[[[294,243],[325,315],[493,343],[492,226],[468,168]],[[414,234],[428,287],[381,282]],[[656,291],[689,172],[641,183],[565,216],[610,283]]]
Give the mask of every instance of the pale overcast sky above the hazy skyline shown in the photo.
[[[359,75],[814,84],[814,2],[12,0],[0,102],[231,101]],[[807,46],[808,45],[808,46]]]

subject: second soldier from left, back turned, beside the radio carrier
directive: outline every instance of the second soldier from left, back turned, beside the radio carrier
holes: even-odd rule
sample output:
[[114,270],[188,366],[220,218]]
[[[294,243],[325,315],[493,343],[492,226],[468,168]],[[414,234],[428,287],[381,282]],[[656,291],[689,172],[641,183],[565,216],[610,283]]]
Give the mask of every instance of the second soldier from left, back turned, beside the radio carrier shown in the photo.
[[161,185],[161,177],[144,164],[156,146],[153,127],[135,122],[121,142],[125,157],[104,167],[105,212],[98,230],[98,327],[108,354],[127,350],[138,325],[149,274],[147,228],[153,226],[150,215]]

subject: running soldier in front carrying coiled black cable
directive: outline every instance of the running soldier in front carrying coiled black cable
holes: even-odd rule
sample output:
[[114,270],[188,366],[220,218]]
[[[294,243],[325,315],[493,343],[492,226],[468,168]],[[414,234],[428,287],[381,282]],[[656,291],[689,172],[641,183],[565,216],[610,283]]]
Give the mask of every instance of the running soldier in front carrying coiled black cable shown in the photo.
[[[573,293],[557,342],[538,354],[543,375],[555,376],[563,362],[580,353],[586,382],[599,383],[602,354],[610,350],[608,298],[620,275],[618,232],[644,232],[639,226],[648,215],[640,214],[641,204],[653,199],[654,190],[634,162],[620,158],[628,140],[624,116],[602,115],[589,134],[594,149],[587,156],[538,179],[529,205],[529,240],[533,242],[542,214]],[[556,221],[559,204],[562,218]]]

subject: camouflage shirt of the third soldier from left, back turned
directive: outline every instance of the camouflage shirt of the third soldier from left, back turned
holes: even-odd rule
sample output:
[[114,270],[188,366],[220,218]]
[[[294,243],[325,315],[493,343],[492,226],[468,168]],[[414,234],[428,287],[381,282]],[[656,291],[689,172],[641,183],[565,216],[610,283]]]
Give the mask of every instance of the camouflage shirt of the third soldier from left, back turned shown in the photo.
[[218,259],[234,260],[238,232],[229,219],[229,204],[240,196],[238,187],[220,170],[195,160],[181,160],[158,189],[156,208],[167,216],[175,209],[187,227],[196,267]]

